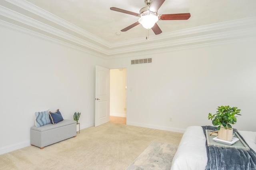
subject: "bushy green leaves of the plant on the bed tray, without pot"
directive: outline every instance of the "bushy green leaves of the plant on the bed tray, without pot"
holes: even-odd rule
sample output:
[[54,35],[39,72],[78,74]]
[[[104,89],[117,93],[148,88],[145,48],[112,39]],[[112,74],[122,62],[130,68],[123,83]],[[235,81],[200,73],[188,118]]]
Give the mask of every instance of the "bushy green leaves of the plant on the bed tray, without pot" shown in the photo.
[[237,109],[237,107],[220,106],[217,110],[214,115],[212,115],[212,113],[208,114],[208,120],[211,119],[212,125],[220,125],[217,130],[220,130],[221,126],[225,129],[232,128],[230,124],[234,125],[236,123],[236,115],[241,115],[239,114],[241,109]]

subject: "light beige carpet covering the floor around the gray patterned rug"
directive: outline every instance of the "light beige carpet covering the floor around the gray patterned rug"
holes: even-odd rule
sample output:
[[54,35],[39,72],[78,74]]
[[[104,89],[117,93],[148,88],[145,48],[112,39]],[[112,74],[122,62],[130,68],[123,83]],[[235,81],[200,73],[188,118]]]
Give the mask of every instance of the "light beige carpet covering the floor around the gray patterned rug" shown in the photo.
[[106,123],[80,130],[44,149],[28,146],[0,155],[0,169],[125,170],[153,141],[178,146],[182,133]]

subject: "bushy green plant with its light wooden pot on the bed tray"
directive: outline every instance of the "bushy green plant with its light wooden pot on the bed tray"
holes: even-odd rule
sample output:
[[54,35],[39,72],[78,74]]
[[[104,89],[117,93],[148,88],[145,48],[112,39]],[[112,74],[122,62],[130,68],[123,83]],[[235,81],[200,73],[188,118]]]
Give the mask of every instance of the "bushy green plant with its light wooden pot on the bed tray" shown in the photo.
[[233,129],[232,125],[236,123],[236,115],[239,114],[241,109],[237,109],[237,107],[230,106],[220,106],[217,108],[216,114],[212,115],[212,113],[208,114],[208,120],[211,119],[212,125],[217,126],[218,138],[222,140],[232,141],[233,137]]

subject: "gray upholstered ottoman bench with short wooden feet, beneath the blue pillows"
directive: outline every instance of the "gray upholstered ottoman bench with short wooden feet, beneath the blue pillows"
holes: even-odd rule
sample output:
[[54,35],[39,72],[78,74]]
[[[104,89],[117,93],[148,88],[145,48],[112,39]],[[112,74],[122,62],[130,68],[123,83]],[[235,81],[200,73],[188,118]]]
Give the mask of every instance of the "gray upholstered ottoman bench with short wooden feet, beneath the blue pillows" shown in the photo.
[[44,146],[76,137],[76,121],[63,120],[56,125],[51,123],[42,127],[30,128],[30,144],[43,149]]

